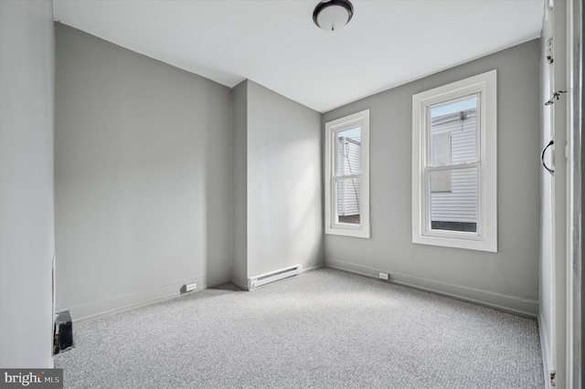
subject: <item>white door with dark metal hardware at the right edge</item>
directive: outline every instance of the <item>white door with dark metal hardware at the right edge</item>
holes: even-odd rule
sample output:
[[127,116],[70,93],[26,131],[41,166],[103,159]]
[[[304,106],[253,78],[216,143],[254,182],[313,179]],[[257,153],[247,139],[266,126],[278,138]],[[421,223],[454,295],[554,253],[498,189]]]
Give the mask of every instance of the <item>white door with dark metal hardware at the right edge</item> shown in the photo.
[[[547,1],[543,26],[540,312],[547,387],[567,383],[567,2]],[[553,97],[559,93],[558,98]],[[543,101],[543,102],[544,102]]]

